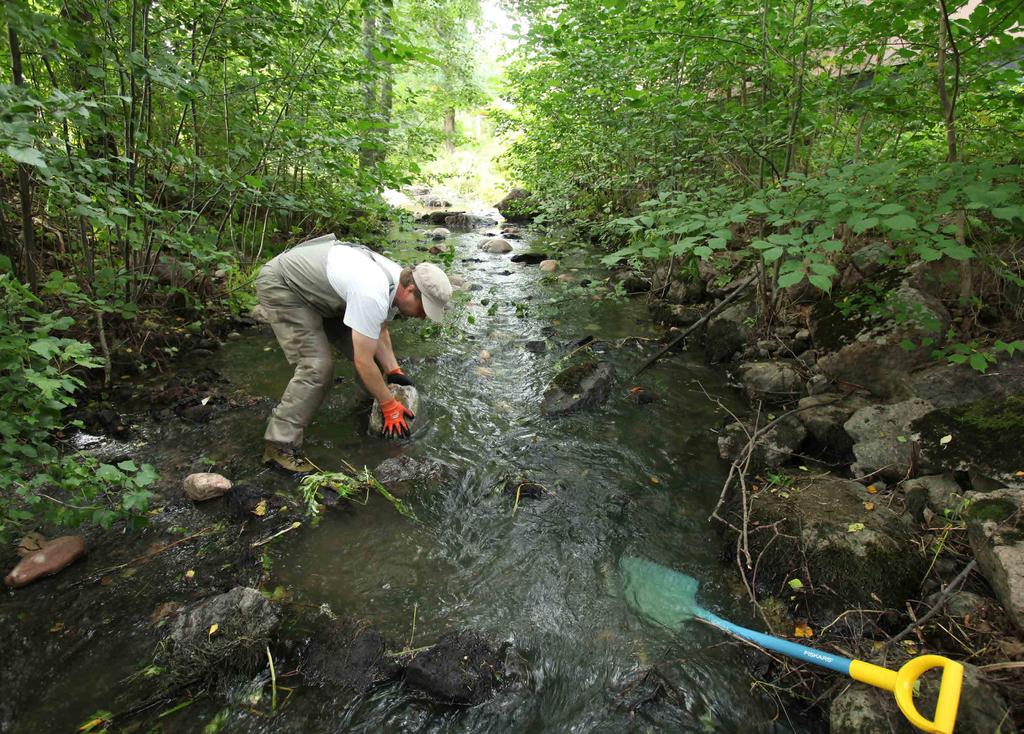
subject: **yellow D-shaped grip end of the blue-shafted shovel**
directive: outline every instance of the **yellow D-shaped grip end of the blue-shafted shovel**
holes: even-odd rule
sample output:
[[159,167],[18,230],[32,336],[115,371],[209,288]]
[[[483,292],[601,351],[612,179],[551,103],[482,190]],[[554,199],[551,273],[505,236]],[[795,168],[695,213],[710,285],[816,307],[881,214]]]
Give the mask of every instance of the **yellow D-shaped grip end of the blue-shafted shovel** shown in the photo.
[[[913,684],[933,667],[942,668],[942,680],[939,683],[939,700],[935,704],[935,719],[929,721],[913,705]],[[964,665],[955,660],[942,655],[922,655],[908,660],[895,673],[863,660],[853,660],[850,663],[850,677],[892,691],[903,716],[922,731],[952,734],[956,724],[956,710],[959,708],[961,686],[964,684]]]

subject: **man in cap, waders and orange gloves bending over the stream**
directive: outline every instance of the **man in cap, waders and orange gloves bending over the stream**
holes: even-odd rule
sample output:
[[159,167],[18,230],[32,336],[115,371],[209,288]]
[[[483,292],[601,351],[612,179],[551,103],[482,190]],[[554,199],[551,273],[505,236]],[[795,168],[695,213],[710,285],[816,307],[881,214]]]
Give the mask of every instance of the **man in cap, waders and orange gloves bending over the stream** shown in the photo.
[[264,265],[256,295],[285,357],[295,365],[266,427],[264,463],[294,474],[315,470],[302,454],[302,438],[334,383],[331,341],[350,354],[359,380],[380,402],[383,435],[409,435],[406,419],[415,416],[387,385],[413,382],[395,359],[388,321],[399,312],[441,320],[452,297],[443,270],[429,262],[402,268],[362,245],[328,234]]

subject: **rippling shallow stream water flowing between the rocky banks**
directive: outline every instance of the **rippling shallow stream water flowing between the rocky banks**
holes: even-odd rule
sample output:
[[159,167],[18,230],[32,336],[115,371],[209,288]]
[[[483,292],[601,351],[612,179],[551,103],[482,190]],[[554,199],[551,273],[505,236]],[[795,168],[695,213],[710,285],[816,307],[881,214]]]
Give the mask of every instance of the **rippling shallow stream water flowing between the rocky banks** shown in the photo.
[[[414,257],[419,236],[399,240],[397,259]],[[340,468],[339,459],[373,468],[409,456],[443,462],[455,478],[409,498],[417,523],[374,496],[281,538],[269,587],[364,617],[395,648],[430,644],[449,630],[482,631],[514,644],[528,680],[469,709],[438,709],[398,685],[385,686],[339,709],[332,730],[792,730],[784,714],[752,690],[748,668],[756,656],[697,623],[682,634],[651,625],[623,599],[616,574],[624,554],[671,565],[700,580],[707,606],[749,620],[708,521],[725,469],[714,432],[725,416],[709,394],[738,407],[734,392],[697,355],[675,354],[642,376],[659,399],[639,404],[627,376],[659,336],[643,299],[573,288],[606,274],[583,249],[563,253],[558,272],[573,282],[564,284],[507,255],[481,253],[481,239],[453,240],[450,270],[474,288],[460,297],[455,326],[440,333],[415,320],[392,328],[399,361],[425,403],[415,438],[396,443],[367,435],[368,398],[346,362],[339,362],[340,384],[307,433],[307,452],[325,469]],[[518,242],[516,249],[545,245]],[[587,336],[620,376],[608,402],[542,416],[545,387]],[[544,342],[545,350],[527,349],[527,342]],[[291,375],[268,331],[230,342],[214,366],[268,399]],[[246,457],[236,460],[238,471],[288,490],[288,480],[256,461],[268,402],[155,440],[184,462],[199,454],[210,462]],[[502,487],[521,475],[548,492],[516,505]],[[651,667],[674,693],[656,695],[653,679],[642,677]],[[301,711],[324,705],[323,692],[300,688],[283,716],[242,714],[223,731],[310,731]],[[201,731],[216,710],[194,706],[168,718],[164,730]]]

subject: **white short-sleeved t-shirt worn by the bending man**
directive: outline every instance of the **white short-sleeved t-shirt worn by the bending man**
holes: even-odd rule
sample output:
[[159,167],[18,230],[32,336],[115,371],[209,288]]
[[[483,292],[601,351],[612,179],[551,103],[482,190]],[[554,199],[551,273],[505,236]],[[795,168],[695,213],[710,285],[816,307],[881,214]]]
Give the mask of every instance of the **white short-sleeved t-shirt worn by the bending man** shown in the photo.
[[[376,262],[374,262],[376,260]],[[377,263],[380,263],[378,265]],[[386,267],[398,288],[401,267],[383,255],[346,245],[336,245],[327,255],[327,279],[345,301],[344,325],[370,339],[378,339],[381,325],[394,318],[394,292],[389,292]]]

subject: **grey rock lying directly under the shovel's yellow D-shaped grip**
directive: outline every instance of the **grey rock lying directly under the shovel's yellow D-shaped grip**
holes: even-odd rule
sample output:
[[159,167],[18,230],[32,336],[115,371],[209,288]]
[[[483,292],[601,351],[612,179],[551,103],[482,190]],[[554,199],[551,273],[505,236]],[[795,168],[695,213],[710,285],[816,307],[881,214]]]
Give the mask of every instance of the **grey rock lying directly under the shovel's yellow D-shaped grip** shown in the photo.
[[[914,696],[913,703],[927,717],[935,710],[939,679],[926,676],[921,680],[921,695]],[[981,671],[965,663],[956,731],[1009,732],[1012,723],[1013,716],[1002,694],[985,680]],[[920,734],[900,713],[892,693],[863,684],[849,686],[833,700],[828,727],[829,734]]]

